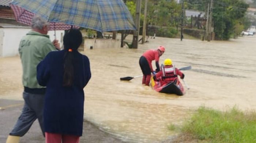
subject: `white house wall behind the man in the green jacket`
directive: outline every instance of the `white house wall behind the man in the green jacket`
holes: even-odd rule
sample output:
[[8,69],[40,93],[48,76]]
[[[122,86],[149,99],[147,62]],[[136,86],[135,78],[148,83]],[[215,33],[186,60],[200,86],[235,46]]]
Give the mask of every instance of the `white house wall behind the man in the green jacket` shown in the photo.
[[[0,28],[0,57],[18,55],[20,39],[30,30],[30,27]],[[54,40],[54,31],[49,31],[48,35],[50,35],[51,41]],[[56,38],[61,42],[60,44],[62,45],[63,42],[61,41],[61,35],[64,35],[64,31],[56,31]]]

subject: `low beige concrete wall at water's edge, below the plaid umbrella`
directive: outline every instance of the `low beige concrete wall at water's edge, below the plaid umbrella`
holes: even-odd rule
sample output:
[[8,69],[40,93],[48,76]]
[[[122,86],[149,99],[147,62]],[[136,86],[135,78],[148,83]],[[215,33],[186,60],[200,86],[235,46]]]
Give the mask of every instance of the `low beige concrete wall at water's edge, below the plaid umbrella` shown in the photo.
[[84,50],[93,48],[120,48],[121,41],[113,39],[84,39]]

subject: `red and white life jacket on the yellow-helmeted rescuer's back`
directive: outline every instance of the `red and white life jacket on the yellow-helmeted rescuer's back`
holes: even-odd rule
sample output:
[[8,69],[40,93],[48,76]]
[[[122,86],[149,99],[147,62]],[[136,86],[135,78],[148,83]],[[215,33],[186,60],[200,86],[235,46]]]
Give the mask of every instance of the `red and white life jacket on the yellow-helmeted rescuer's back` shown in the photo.
[[177,73],[174,65],[167,65],[167,66],[162,65],[161,68],[163,72],[163,76],[162,76],[163,81],[174,81],[175,79],[177,79]]

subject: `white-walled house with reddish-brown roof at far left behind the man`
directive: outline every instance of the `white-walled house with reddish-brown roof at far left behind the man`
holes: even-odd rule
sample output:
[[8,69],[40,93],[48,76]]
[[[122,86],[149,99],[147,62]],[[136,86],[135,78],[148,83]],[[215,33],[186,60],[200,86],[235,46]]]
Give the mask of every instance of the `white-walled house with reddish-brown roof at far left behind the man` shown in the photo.
[[[31,28],[15,20],[14,13],[9,6],[12,0],[0,0],[0,57],[17,56],[19,54],[20,39]],[[54,31],[49,31],[50,40],[54,40]],[[64,31],[56,31],[56,39],[63,44]]]

